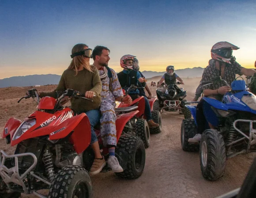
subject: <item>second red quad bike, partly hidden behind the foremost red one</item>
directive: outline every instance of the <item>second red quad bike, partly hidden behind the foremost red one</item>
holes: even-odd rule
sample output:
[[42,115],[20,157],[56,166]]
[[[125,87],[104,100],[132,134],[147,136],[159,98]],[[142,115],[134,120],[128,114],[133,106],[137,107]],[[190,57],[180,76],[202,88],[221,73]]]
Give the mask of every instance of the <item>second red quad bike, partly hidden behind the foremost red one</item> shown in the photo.
[[[144,88],[144,87],[136,87],[132,85],[129,88],[124,88],[123,92],[124,95],[127,95],[130,91],[136,90],[136,89]],[[126,91],[125,91],[126,90]],[[150,128],[148,127],[147,121],[145,120],[144,111],[145,111],[145,99],[144,96],[140,96],[139,98],[132,101],[131,104],[124,104],[120,103],[120,105],[117,107],[117,110],[120,107],[132,107],[132,106],[138,106],[139,113],[136,114],[132,119],[130,119],[125,127],[125,130],[131,132],[135,136],[139,136],[143,143],[145,148],[149,147],[149,141],[150,141],[150,133],[160,133],[162,129],[162,117],[159,111],[153,110],[153,105],[156,98],[149,99],[149,103],[151,106],[151,114],[153,121],[157,124],[159,124],[159,127],[156,128]]]

